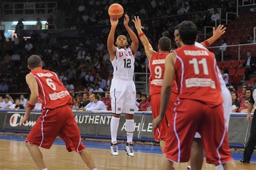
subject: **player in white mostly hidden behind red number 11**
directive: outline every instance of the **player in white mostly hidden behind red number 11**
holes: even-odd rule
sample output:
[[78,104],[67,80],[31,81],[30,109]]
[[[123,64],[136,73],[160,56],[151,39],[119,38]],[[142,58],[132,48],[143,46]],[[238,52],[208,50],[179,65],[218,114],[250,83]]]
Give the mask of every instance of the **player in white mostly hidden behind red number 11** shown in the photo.
[[[216,30],[213,29],[213,36],[211,38],[209,38],[207,40],[207,42],[206,41],[203,43],[196,42],[195,45],[202,49],[208,50],[208,49],[206,49],[205,46],[212,44],[213,42],[215,42],[215,40],[220,38],[225,33],[225,29],[226,28],[224,28],[223,25],[219,25]],[[178,42],[178,39],[179,39],[178,25],[174,29],[174,38],[175,38],[176,45],[178,47],[180,47],[179,42]],[[208,45],[206,45],[207,43],[208,43]],[[232,112],[232,108],[231,108],[232,107],[232,98],[231,98],[230,91],[227,89],[225,81],[223,80],[223,77],[221,76],[219,69],[218,69],[218,77],[220,80],[221,94],[224,99],[224,103],[223,103],[224,110],[223,111],[224,111],[225,126],[226,126],[226,128],[228,128],[228,124],[230,121],[230,112]],[[191,148],[190,162],[194,169],[201,169],[201,167],[203,165],[203,144],[201,143],[200,138],[201,138],[200,134],[196,133],[196,135],[194,136],[194,141],[193,141],[192,148]],[[221,164],[215,165],[215,168],[217,170],[224,169],[223,165],[221,165]],[[187,169],[190,169],[190,166],[188,166]]]

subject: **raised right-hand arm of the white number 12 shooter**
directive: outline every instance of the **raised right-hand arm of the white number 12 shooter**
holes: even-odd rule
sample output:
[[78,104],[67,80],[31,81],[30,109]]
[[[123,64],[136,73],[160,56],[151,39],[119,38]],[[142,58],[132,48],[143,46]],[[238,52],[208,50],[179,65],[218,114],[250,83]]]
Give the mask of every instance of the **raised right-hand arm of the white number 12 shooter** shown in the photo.
[[129,21],[130,21],[129,16],[127,14],[125,14],[124,26],[125,26],[126,30],[128,31],[129,36],[132,39],[131,50],[135,54],[138,50],[138,47],[139,47],[139,40],[138,40],[136,34],[130,28]]

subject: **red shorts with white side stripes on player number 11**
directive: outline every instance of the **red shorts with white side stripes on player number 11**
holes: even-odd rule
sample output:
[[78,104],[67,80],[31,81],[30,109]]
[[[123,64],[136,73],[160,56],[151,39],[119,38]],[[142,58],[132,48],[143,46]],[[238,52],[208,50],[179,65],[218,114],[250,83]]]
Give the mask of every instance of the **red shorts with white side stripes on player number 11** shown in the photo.
[[174,108],[174,118],[165,144],[166,159],[187,162],[196,132],[202,137],[208,164],[218,165],[233,160],[228,145],[223,106],[207,105],[190,99],[178,101]]

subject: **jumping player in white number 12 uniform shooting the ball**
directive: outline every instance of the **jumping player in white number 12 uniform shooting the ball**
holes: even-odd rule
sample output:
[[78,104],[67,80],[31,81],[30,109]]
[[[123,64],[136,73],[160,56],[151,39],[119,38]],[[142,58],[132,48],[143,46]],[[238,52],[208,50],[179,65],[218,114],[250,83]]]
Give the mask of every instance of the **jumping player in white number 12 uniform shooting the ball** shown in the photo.
[[117,37],[114,46],[114,31],[116,30],[118,19],[110,18],[111,29],[107,38],[107,50],[110,53],[110,60],[113,65],[113,79],[110,87],[112,118],[110,122],[111,130],[111,154],[118,156],[117,130],[119,126],[120,114],[125,113],[125,127],[127,132],[127,142],[125,151],[128,156],[133,157],[132,137],[134,131],[133,114],[136,105],[136,89],[133,82],[134,56],[138,50],[139,40],[136,34],[129,27],[129,16],[124,18],[124,26],[132,40],[131,46],[127,47],[127,38],[123,35]]

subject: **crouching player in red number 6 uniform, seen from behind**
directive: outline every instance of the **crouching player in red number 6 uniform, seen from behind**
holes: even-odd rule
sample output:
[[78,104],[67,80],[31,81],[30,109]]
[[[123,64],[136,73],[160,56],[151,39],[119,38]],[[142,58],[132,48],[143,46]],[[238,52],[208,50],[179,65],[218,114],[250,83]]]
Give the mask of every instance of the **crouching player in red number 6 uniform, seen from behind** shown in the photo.
[[59,135],[65,141],[69,152],[79,153],[85,164],[96,170],[91,155],[81,141],[79,128],[70,107],[72,99],[68,90],[55,72],[42,69],[42,60],[39,56],[30,56],[28,67],[31,72],[26,75],[26,83],[29,85],[31,97],[21,123],[24,124],[29,119],[39,100],[42,104],[42,115],[25,140],[37,167],[47,170],[39,147],[49,149]]

